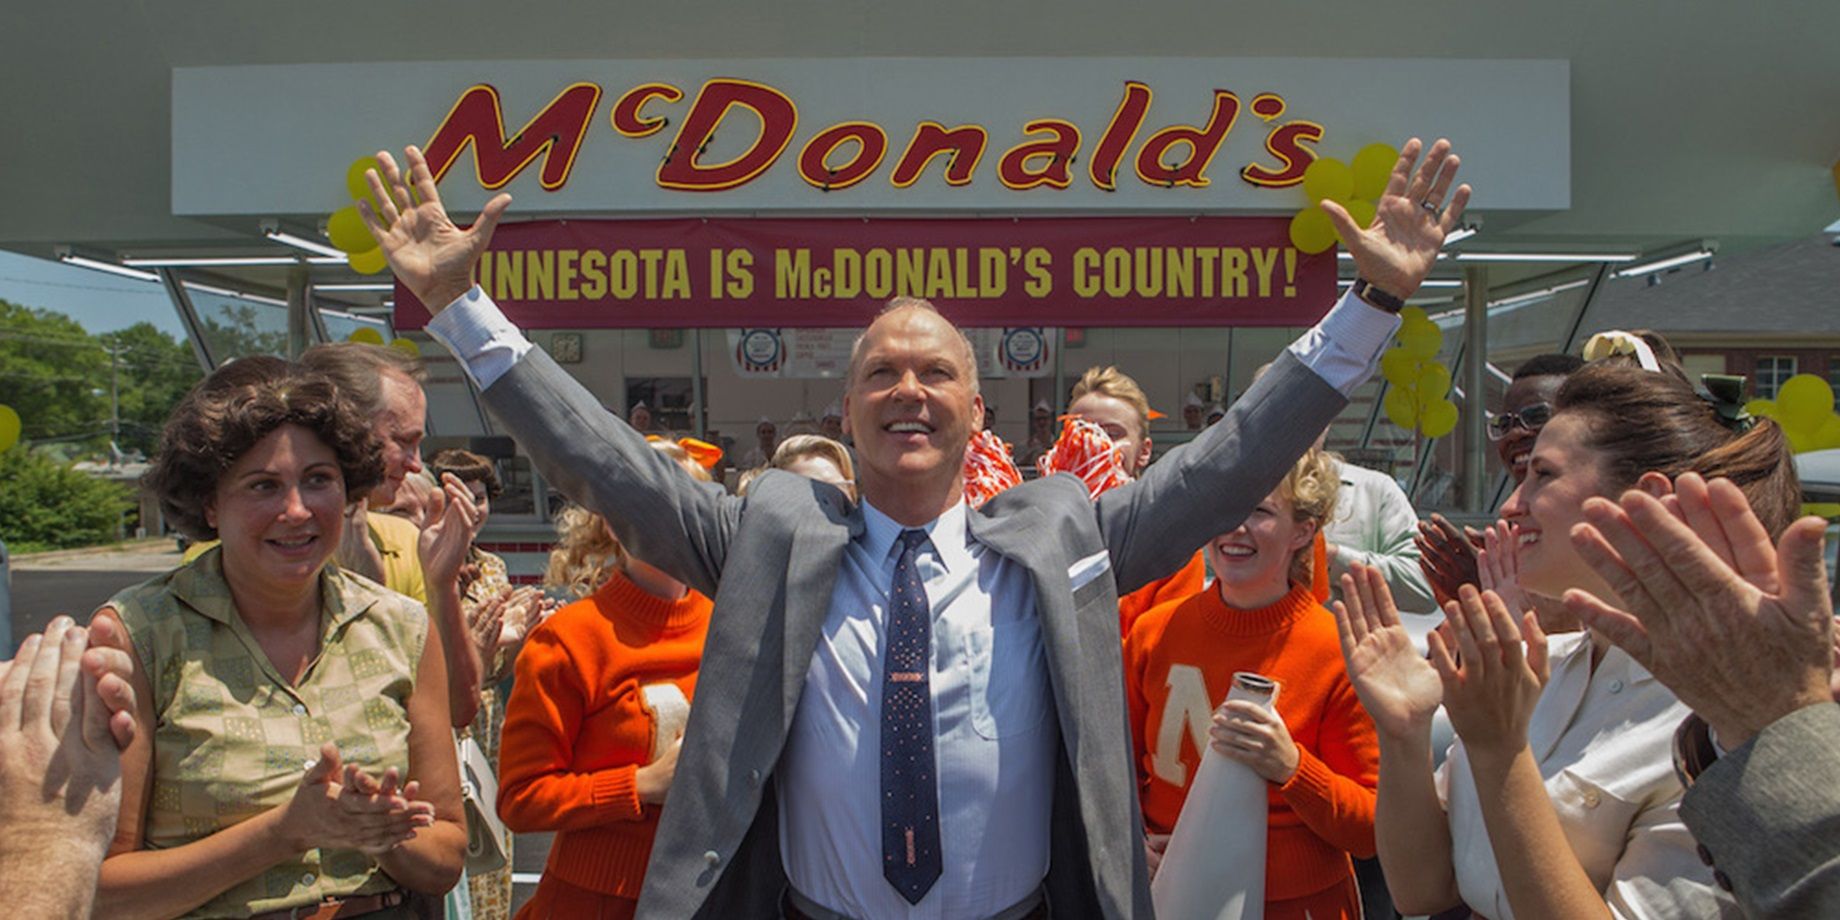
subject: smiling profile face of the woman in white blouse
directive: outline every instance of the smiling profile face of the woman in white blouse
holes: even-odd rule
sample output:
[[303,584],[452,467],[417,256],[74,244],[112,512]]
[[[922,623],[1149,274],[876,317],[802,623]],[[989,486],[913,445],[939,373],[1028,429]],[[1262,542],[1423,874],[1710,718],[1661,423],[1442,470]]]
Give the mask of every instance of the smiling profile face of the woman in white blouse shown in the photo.
[[1601,598],[1616,596],[1571,548],[1571,526],[1584,521],[1584,500],[1621,491],[1604,482],[1599,453],[1590,447],[1588,436],[1588,414],[1553,416],[1540,429],[1527,478],[1501,506],[1501,517],[1514,526],[1522,587],[1549,598],[1571,587]]

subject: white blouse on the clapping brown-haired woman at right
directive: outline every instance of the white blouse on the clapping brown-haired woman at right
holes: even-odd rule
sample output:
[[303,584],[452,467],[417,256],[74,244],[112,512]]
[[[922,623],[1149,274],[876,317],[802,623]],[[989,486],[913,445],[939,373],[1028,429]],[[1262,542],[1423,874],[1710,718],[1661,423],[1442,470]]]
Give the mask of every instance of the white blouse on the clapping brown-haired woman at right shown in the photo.
[[[1527,725],[1527,747],[1571,852],[1614,916],[1742,916],[1713,885],[1713,870],[1678,815],[1684,789],[1674,776],[1673,738],[1687,707],[1614,646],[1593,672],[1588,637],[1551,637],[1551,677]],[[1437,795],[1450,815],[1463,903],[1481,916],[1512,920],[1461,738],[1437,771]]]

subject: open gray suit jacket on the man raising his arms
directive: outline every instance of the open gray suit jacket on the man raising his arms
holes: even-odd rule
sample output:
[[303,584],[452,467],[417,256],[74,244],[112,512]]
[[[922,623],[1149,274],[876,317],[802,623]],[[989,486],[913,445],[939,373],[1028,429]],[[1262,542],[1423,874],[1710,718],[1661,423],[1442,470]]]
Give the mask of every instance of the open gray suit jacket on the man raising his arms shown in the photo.
[[[716,600],[640,916],[776,916],[786,876],[773,771],[861,513],[835,488],[784,473],[756,478],[745,500],[690,480],[541,351],[484,401],[543,475],[605,515],[627,550]],[[1021,563],[1036,589],[1060,723],[1054,914],[1152,914],[1119,594],[1238,526],[1343,405],[1286,353],[1224,421],[1098,502],[1076,478],[1051,477],[970,515],[972,535]],[[1098,552],[1110,554],[1110,578],[1073,591],[1067,569]]]

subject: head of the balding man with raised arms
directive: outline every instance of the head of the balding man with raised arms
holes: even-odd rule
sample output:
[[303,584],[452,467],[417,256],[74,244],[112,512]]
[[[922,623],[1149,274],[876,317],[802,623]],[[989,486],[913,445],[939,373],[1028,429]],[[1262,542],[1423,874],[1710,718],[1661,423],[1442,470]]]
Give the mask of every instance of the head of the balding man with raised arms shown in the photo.
[[959,331],[929,309],[883,313],[863,333],[843,416],[863,497],[878,508],[914,486],[955,482],[962,493],[964,447],[984,418],[968,357]]

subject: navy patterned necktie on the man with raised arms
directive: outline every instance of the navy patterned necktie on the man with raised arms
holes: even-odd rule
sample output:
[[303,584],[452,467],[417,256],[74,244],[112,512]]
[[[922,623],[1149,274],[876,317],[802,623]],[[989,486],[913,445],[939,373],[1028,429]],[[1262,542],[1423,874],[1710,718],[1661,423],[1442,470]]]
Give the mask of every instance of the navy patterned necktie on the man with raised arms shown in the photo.
[[926,530],[902,530],[881,659],[881,876],[920,903],[940,874],[933,760],[933,609],[914,556]]

